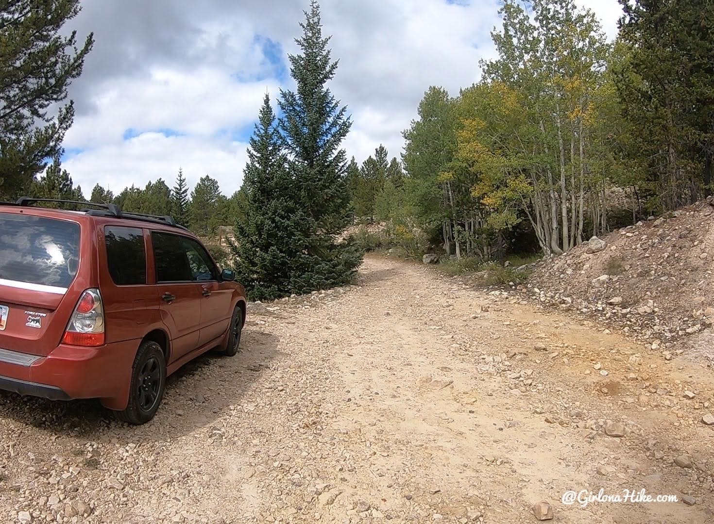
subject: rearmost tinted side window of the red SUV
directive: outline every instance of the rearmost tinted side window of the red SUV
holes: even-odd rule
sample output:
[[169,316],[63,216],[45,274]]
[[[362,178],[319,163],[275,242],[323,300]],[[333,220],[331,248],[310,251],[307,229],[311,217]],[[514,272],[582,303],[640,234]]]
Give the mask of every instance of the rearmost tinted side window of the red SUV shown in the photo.
[[114,284],[146,284],[144,232],[135,227],[104,227],[106,260]]

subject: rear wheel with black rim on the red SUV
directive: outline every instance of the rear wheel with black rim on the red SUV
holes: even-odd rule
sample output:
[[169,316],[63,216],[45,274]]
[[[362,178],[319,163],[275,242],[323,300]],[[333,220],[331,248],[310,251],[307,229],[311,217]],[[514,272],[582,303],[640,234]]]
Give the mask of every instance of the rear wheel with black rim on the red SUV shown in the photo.
[[131,369],[129,403],[114,411],[116,418],[131,424],[143,424],[154,418],[166,388],[166,357],[161,346],[146,340],[139,346]]

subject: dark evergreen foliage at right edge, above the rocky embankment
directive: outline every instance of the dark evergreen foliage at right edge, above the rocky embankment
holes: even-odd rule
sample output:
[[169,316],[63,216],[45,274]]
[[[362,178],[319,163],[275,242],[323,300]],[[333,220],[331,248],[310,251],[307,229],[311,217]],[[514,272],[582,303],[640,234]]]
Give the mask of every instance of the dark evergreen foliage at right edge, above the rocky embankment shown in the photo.
[[613,79],[625,118],[625,159],[649,210],[712,189],[714,9],[707,0],[623,0]]

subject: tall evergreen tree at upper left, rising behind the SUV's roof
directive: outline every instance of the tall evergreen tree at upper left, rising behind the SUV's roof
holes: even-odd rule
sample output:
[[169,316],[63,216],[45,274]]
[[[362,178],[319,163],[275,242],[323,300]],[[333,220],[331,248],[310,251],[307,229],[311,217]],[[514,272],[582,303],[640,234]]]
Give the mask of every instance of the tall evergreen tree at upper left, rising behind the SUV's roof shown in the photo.
[[[0,200],[26,192],[47,159],[62,154],[74,106],[59,104],[94,43],[90,34],[78,49],[76,32],[63,31],[79,10],[79,0],[0,6]],[[49,113],[55,107],[56,115]]]

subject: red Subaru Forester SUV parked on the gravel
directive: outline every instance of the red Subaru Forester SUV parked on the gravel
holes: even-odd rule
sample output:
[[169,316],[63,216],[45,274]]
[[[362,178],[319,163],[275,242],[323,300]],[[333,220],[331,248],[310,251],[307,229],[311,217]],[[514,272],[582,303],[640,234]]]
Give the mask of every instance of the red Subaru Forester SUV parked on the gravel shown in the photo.
[[34,202],[60,201],[0,202],[0,389],[98,398],[140,424],[166,376],[209,349],[236,354],[245,290],[171,217]]

